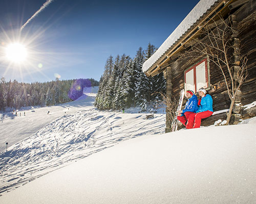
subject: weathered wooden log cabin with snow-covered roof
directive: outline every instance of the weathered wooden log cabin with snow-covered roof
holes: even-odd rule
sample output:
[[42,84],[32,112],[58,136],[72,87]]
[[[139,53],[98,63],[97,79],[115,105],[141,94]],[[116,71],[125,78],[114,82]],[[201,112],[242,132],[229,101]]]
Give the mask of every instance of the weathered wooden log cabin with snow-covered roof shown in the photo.
[[[210,55],[198,52],[204,50],[202,44],[209,41],[207,34],[214,35],[225,25],[231,28],[225,35],[231,45],[227,51],[231,77],[226,69],[222,72],[216,62],[210,60]],[[204,87],[213,98],[214,115],[202,120],[202,125],[210,125],[218,119],[226,119],[227,113],[223,110],[230,106],[226,82],[231,87],[231,78],[238,81],[242,59],[246,59],[244,73],[247,77],[239,88],[232,111],[230,124],[236,124],[241,119],[256,116],[256,107],[243,108],[256,101],[255,0],[201,0],[142,69],[147,77],[164,73],[169,99],[179,99],[182,89],[197,92]],[[186,100],[183,105],[185,103]],[[166,132],[172,130],[168,114],[167,107]]]

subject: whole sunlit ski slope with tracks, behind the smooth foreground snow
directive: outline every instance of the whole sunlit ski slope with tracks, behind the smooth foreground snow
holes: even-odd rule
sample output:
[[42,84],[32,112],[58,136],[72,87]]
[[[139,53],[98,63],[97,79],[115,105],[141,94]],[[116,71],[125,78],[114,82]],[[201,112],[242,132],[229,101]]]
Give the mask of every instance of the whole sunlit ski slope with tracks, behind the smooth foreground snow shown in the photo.
[[93,106],[96,91],[84,90],[72,103],[27,110],[26,116],[1,122],[0,194],[119,141],[164,133],[163,113],[145,120],[141,113],[98,111]]

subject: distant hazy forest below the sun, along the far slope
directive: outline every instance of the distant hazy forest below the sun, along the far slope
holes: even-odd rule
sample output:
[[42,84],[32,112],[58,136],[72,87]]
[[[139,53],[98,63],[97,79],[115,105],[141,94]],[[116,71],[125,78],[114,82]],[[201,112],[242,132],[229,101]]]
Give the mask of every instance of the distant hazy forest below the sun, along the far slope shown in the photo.
[[53,106],[77,99],[83,87],[99,86],[94,79],[62,80],[52,82],[18,83],[0,81],[0,111],[27,106]]

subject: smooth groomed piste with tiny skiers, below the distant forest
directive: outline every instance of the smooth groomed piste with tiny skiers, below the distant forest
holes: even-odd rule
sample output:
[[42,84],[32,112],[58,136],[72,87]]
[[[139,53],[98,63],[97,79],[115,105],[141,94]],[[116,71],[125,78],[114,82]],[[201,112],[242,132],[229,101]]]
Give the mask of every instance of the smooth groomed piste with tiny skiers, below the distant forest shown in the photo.
[[[82,100],[78,98],[76,101],[59,106],[23,108],[17,111],[17,116],[15,116],[15,112],[14,114],[13,112],[0,113],[0,152],[6,150],[6,142],[11,146],[22,141],[44,128],[49,122],[65,114],[74,114],[80,110],[94,109],[93,103],[97,91],[98,87],[84,89],[84,93],[80,97]],[[47,114],[48,111],[50,111],[49,114]],[[24,112],[26,116],[24,116]]]

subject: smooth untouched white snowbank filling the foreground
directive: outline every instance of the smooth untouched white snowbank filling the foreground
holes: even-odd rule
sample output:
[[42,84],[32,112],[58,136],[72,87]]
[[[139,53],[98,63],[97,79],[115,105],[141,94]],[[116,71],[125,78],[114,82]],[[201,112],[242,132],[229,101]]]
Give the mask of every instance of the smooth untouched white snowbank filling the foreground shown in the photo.
[[1,203],[256,203],[255,123],[146,135],[77,160]]

